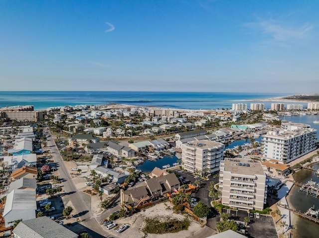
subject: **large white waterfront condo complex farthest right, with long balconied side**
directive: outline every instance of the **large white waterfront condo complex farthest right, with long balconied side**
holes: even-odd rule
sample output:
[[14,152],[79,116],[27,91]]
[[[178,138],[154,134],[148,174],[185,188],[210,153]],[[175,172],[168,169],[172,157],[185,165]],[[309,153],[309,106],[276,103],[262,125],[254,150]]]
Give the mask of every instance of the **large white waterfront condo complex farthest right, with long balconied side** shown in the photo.
[[263,135],[263,158],[290,162],[316,149],[317,130],[309,125],[285,122],[279,131]]

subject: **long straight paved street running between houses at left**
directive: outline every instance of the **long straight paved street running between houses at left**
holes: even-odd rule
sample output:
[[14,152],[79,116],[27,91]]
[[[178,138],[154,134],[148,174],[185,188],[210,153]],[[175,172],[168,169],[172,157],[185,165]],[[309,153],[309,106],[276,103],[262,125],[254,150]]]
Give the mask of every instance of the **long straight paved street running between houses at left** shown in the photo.
[[[46,130],[46,129],[44,129]],[[66,205],[69,201],[72,203],[72,207],[77,211],[74,215],[75,218],[79,218],[81,224],[86,227],[87,232],[94,238],[107,237],[107,234],[100,226],[98,221],[93,217],[91,212],[91,197],[90,195],[78,191],[76,186],[71,179],[71,175],[65,166],[62,156],[58,151],[58,148],[54,142],[54,136],[48,138],[47,146],[50,149],[52,159],[57,165],[57,170],[55,173],[58,174],[59,178],[62,180],[64,186],[64,197],[63,203]],[[100,235],[100,234],[103,234]]]

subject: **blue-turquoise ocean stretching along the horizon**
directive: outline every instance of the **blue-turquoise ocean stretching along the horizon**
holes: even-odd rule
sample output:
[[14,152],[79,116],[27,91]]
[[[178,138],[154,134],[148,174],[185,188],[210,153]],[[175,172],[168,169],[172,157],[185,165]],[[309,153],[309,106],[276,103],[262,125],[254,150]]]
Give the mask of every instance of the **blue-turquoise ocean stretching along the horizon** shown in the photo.
[[[232,103],[247,103],[249,108],[254,99],[287,95],[241,92],[0,91],[0,107],[33,105],[35,110],[42,110],[55,106],[120,103],[135,106],[215,110],[230,109]],[[265,108],[270,108],[273,102],[263,103]],[[307,105],[307,103],[303,104]]]

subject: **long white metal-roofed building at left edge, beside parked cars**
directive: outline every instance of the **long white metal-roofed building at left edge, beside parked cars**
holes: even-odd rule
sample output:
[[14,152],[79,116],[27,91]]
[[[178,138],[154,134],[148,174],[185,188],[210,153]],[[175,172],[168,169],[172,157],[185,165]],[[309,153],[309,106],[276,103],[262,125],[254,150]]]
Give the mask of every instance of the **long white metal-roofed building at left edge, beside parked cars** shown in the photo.
[[3,210],[4,226],[12,227],[15,221],[35,218],[35,190],[13,189],[7,196]]

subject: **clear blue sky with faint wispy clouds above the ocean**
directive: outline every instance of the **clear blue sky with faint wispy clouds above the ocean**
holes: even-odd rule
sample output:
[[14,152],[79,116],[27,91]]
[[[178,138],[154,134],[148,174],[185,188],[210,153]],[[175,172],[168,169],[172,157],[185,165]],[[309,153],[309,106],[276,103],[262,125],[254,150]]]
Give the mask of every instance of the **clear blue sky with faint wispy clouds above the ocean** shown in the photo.
[[316,93],[319,1],[0,0],[0,90]]

